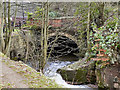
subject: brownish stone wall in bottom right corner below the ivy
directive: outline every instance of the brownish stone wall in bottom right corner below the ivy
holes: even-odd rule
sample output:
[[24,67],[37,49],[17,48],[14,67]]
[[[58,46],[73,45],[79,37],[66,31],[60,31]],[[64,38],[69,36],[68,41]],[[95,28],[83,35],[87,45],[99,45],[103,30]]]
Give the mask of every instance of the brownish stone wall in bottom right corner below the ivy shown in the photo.
[[96,68],[96,82],[100,88],[120,88],[120,64]]

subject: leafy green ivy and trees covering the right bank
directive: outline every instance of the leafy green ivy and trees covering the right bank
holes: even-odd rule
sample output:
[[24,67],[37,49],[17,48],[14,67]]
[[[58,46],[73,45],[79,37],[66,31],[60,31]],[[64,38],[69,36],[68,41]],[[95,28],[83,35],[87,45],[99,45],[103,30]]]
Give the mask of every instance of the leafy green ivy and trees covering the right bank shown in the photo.
[[[90,18],[88,16],[89,13],[87,13],[89,7]],[[87,35],[90,34],[90,37],[87,36],[87,40],[90,39],[90,41],[87,41],[87,45],[89,46],[87,47],[91,48],[90,50],[91,54],[87,53],[87,55],[89,55],[90,57],[96,56],[96,54],[98,53],[97,47],[95,47],[94,44],[96,39],[100,39],[99,43],[101,45],[100,48],[106,50],[105,54],[107,54],[110,57],[110,62],[114,63],[116,60],[118,60],[119,32],[117,28],[118,27],[117,11],[118,11],[117,3],[92,2],[90,3],[90,6],[87,3],[86,4],[81,3],[80,6],[77,8],[75,15],[81,14],[81,18],[77,22],[75,22],[75,25],[79,24],[78,26],[79,42],[83,43],[81,44],[81,49],[83,47],[86,47],[85,46],[86,33]],[[89,28],[85,29],[87,26]]]

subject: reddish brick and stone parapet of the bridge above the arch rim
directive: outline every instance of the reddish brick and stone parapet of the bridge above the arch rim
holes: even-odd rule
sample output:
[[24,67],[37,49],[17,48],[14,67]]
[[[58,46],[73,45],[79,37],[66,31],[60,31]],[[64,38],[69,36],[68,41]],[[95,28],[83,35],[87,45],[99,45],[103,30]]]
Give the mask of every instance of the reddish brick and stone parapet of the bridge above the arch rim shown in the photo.
[[[56,29],[60,32],[67,32],[67,34],[74,35],[75,31],[77,30],[76,26],[74,25],[75,21],[78,20],[79,17],[70,16],[70,17],[59,17],[59,18],[50,18],[49,19],[49,32],[56,32]],[[42,25],[41,19],[30,19],[29,25]]]

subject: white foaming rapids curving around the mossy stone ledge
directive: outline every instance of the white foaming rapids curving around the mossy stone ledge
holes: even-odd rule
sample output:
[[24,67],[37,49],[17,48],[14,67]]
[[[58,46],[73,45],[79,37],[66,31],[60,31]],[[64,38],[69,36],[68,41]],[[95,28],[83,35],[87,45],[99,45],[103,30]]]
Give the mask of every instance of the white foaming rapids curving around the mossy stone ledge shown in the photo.
[[62,76],[57,73],[59,68],[62,68],[68,64],[73,62],[70,61],[51,61],[47,62],[46,67],[44,69],[44,74],[50,79],[54,79],[55,82],[59,85],[62,85],[64,88],[90,88],[87,85],[70,85],[62,79]]

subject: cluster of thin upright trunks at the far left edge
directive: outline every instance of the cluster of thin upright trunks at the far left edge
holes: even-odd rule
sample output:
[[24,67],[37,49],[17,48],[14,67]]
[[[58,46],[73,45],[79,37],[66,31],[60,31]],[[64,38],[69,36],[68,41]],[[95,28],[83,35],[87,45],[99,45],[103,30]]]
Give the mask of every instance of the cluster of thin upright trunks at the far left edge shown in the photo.
[[[17,2],[17,0],[16,0]],[[16,22],[16,19],[14,20],[14,25],[13,27],[11,27],[11,20],[10,20],[10,12],[11,12],[11,4],[10,4],[10,0],[8,1],[8,8],[6,6],[6,0],[4,2],[4,22],[3,22],[3,25],[2,27],[4,28],[1,28],[4,30],[5,34],[3,34],[3,30],[2,33],[1,33],[1,36],[3,37],[3,35],[5,36],[5,40],[2,39],[2,52],[6,55],[8,55],[8,52],[9,52],[9,49],[10,49],[10,43],[11,43],[11,35],[12,35],[12,32],[13,32],[13,29],[14,29],[14,26],[15,26],[15,22]],[[8,12],[6,12],[8,10]],[[15,17],[16,17],[16,14],[17,14],[17,4],[16,4],[16,11],[15,11]],[[8,16],[8,17],[7,17]],[[8,19],[8,23],[7,23],[7,20]]]

